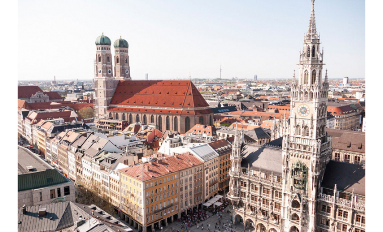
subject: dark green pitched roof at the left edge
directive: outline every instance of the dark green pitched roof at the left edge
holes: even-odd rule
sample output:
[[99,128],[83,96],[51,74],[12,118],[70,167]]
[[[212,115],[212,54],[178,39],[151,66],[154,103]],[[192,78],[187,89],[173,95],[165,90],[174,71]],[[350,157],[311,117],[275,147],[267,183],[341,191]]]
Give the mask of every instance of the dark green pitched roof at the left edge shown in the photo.
[[24,173],[17,175],[17,191],[39,189],[70,182],[71,180],[63,176],[56,169]]

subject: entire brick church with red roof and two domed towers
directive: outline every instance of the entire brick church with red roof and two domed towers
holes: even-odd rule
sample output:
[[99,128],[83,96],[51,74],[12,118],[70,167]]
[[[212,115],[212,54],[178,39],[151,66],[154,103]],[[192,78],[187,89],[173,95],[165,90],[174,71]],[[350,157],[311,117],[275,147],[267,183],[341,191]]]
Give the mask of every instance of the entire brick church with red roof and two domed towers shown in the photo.
[[107,36],[96,38],[97,119],[141,122],[181,134],[196,124],[213,125],[213,111],[191,81],[132,81],[129,45],[122,38],[113,44],[114,76],[110,45]]

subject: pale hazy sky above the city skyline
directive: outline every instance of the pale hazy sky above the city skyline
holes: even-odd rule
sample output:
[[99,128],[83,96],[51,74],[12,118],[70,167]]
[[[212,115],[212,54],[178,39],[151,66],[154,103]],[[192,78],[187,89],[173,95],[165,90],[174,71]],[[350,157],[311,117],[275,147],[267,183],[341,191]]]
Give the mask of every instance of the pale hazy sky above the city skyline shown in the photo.
[[[217,78],[220,65],[222,78],[291,78],[310,10],[310,0],[19,0],[18,80],[91,80],[102,32],[127,40],[134,80]],[[364,78],[365,1],[317,0],[315,20],[329,78]]]

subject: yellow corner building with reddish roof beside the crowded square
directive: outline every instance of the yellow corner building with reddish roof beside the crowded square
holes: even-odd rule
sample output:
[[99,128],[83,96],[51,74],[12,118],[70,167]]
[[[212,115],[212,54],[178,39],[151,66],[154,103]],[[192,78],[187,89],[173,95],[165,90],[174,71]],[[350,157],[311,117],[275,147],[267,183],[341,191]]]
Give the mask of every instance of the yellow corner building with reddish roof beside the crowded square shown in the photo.
[[[198,157],[184,154],[151,158],[144,163],[118,170],[121,182],[121,218],[124,217],[126,222],[129,221],[131,225],[143,232],[173,222],[180,215],[180,171],[187,169],[188,180],[190,176],[193,176],[194,181],[195,173],[200,175],[201,180],[201,165],[202,161]],[[199,166],[200,171],[196,169],[194,172],[194,166]],[[192,175],[189,169],[191,167],[193,167]],[[196,190],[197,180],[196,176]],[[185,183],[183,182],[182,185],[185,186]],[[189,192],[189,181],[187,185],[187,192]],[[191,199],[194,202],[194,197],[197,198],[198,195],[197,191],[194,195],[194,182],[192,190]],[[182,192],[185,194],[184,189]],[[187,199],[189,205],[189,193]]]

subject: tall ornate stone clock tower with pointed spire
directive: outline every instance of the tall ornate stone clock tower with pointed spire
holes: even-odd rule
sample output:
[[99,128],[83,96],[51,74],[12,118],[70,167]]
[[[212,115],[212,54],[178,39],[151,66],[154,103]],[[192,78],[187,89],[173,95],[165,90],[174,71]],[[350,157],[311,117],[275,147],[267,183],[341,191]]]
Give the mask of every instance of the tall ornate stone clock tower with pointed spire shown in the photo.
[[283,231],[315,231],[318,183],[331,157],[331,136],[326,134],[329,83],[322,82],[323,48],[316,33],[314,0],[303,51],[299,52],[299,78],[291,84],[289,133],[283,136]]

